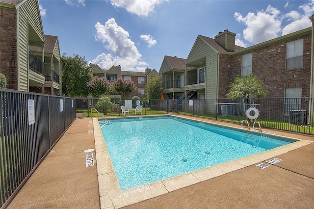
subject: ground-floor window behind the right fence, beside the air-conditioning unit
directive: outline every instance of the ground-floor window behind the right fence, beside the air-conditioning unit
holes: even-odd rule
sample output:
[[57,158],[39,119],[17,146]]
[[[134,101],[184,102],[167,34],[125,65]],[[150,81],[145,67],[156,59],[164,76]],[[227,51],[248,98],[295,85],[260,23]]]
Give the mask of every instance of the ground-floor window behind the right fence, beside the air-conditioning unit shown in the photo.
[[301,109],[302,88],[286,88],[285,90],[285,115],[289,115],[290,110]]

